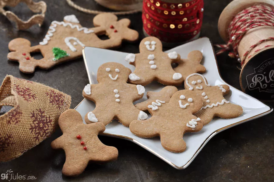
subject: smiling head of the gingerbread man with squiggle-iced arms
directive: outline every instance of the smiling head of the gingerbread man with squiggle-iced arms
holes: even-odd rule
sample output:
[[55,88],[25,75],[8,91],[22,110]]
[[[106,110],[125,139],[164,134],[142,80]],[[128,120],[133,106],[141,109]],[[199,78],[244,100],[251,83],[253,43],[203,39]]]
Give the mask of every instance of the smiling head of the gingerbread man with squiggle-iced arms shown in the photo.
[[201,109],[203,101],[202,98],[193,91],[180,90],[173,94],[170,103],[172,103],[174,107],[191,110],[191,113],[195,114]]

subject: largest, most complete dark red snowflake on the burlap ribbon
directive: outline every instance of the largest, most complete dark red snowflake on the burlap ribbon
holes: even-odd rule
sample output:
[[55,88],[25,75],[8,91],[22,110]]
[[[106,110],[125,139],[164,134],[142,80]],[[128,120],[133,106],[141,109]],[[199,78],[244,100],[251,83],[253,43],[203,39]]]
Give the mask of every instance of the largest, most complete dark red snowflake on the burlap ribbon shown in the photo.
[[32,111],[30,118],[33,119],[32,124],[30,124],[30,133],[34,134],[33,139],[41,141],[51,134],[53,120],[51,116],[46,116],[41,108]]

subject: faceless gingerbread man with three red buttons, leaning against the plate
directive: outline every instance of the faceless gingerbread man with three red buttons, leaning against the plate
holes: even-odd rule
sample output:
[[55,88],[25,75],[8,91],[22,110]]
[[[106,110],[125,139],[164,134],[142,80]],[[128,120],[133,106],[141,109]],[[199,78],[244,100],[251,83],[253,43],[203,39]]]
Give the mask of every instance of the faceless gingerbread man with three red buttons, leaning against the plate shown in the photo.
[[84,124],[82,116],[73,109],[61,114],[58,122],[63,135],[51,142],[51,147],[65,150],[64,175],[81,174],[89,161],[109,162],[117,159],[118,150],[104,145],[97,136],[105,131],[103,123]]

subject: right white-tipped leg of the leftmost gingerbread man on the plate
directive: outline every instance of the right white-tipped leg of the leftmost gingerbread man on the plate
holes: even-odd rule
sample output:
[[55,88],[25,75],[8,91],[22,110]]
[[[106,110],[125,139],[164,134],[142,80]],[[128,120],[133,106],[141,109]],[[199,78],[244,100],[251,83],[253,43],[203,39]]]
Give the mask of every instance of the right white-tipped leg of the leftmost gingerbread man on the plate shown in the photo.
[[133,120],[145,120],[148,117],[144,111],[137,109],[133,104],[130,107],[121,109],[121,111],[122,112],[117,115],[117,119],[120,123],[127,127],[129,127],[129,124]]

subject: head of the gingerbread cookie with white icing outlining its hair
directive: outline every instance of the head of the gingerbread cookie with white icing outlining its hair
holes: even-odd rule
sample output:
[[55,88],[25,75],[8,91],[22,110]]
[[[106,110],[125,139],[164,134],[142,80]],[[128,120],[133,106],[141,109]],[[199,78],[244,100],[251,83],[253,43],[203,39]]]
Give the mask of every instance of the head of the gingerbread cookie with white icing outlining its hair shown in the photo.
[[206,78],[198,73],[188,75],[184,82],[184,88],[189,90],[203,90],[205,87],[210,86]]

